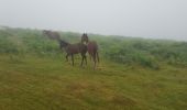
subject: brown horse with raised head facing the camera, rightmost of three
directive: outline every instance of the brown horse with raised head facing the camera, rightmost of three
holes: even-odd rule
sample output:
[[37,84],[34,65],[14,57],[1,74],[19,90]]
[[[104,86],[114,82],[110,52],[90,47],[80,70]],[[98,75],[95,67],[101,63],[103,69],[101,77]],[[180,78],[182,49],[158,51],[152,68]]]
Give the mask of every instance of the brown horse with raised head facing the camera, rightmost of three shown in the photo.
[[87,51],[95,63],[94,68],[96,68],[96,63],[99,63],[98,44],[95,41],[89,41],[88,35],[84,33],[81,36],[81,44],[85,43],[87,44]]

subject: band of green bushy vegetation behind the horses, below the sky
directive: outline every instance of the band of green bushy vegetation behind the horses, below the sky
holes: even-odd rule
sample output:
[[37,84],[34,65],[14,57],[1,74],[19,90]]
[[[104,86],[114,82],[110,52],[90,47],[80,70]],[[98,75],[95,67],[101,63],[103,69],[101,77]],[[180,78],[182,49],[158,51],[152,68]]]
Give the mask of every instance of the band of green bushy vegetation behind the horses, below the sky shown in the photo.
[[[81,34],[61,32],[61,38],[69,42],[80,42]],[[144,67],[158,68],[158,62],[187,64],[187,43],[172,41],[153,41],[132,37],[117,37],[89,34],[90,41],[97,41],[99,54],[110,61]],[[59,45],[48,40],[38,30],[7,29],[0,30],[0,53],[37,53],[58,54]]]

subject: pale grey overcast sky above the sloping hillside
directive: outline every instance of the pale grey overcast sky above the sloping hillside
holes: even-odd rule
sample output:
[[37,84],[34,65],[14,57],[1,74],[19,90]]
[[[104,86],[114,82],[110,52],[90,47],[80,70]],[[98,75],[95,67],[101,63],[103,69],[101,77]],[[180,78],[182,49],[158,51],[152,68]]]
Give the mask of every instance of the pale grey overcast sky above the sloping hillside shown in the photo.
[[187,41],[187,0],[0,0],[0,25]]

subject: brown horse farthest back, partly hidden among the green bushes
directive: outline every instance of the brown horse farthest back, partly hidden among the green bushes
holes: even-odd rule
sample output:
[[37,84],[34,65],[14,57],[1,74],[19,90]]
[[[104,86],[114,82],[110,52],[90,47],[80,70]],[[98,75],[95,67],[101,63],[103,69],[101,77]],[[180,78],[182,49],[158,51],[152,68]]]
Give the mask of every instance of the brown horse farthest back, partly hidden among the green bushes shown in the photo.
[[51,40],[57,40],[59,41],[59,34],[57,32],[48,31],[48,30],[43,30],[43,34],[47,36]]

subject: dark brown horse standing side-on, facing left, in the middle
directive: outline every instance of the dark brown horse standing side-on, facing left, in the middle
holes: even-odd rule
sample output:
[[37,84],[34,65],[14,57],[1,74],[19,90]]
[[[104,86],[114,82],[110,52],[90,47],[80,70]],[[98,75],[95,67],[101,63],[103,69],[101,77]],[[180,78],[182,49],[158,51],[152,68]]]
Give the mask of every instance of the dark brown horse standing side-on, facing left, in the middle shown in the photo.
[[81,66],[84,61],[87,64],[87,57],[86,57],[86,53],[87,53],[87,46],[82,43],[77,43],[77,44],[69,44],[63,40],[59,41],[59,46],[61,48],[66,52],[66,61],[68,61],[68,56],[72,56],[72,62],[73,62],[73,66],[74,66],[74,54],[81,54]]

